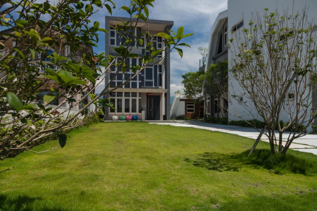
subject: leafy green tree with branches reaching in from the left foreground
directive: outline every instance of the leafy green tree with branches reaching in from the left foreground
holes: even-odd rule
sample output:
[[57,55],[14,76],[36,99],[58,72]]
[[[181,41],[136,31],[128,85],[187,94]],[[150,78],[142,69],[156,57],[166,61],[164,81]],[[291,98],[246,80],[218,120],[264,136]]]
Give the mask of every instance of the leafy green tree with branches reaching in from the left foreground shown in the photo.
[[[102,8],[112,14],[115,4],[111,0],[1,1],[0,25],[5,30],[0,32],[0,158],[56,138],[63,147],[69,129],[84,125],[95,114],[102,114],[106,107],[113,108],[109,99],[100,96],[128,83],[153,65],[153,58],[162,51],[167,55],[176,49],[183,56],[179,47],[189,45],[181,40],[192,35],[183,34],[183,27],[168,34],[133,33],[139,22],[148,23],[148,7],[153,7],[153,2],[131,0],[130,5],[120,8],[128,13],[130,21],[114,27],[121,43],[114,48],[118,54],[112,56],[92,53],[92,47],[98,43],[98,33],[108,32],[99,27],[99,22],[90,21],[95,13],[105,15]],[[154,49],[155,36],[164,38],[164,48]],[[146,50],[146,55],[141,57],[142,65],[126,64],[126,58],[140,57],[131,50],[141,43]],[[121,59],[116,63],[116,58]],[[110,84],[106,84],[95,96],[95,87],[108,76],[112,66],[118,67],[116,75],[124,73],[126,68],[134,75],[111,90]],[[48,92],[38,99],[36,93],[43,88]],[[60,103],[50,106],[57,99]],[[88,112],[91,105],[95,108]],[[79,109],[70,115],[75,106]],[[65,109],[59,112],[57,109],[61,107]]]

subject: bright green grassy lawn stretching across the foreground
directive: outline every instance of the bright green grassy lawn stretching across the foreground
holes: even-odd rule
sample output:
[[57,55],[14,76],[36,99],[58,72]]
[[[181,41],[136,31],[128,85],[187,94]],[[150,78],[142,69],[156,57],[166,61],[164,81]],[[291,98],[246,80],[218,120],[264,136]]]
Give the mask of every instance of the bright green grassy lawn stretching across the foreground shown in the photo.
[[251,139],[141,122],[93,124],[69,135],[63,149],[0,161],[0,170],[14,166],[0,174],[0,210],[317,209],[312,154],[290,150],[297,167],[272,167],[245,159]]

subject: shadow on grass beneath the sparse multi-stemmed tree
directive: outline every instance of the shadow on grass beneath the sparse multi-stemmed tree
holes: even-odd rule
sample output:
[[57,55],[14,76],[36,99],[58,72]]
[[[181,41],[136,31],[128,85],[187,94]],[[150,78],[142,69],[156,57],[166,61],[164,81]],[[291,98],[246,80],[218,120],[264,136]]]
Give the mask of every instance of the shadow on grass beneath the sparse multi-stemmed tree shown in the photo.
[[220,154],[205,152],[198,154],[196,158],[184,160],[194,166],[214,171],[239,171],[242,166],[249,165],[252,168],[268,169],[275,174],[304,174],[312,176],[317,173],[317,162],[309,158],[298,158],[291,154],[272,155],[270,150],[259,149],[248,158],[249,150],[239,154]]

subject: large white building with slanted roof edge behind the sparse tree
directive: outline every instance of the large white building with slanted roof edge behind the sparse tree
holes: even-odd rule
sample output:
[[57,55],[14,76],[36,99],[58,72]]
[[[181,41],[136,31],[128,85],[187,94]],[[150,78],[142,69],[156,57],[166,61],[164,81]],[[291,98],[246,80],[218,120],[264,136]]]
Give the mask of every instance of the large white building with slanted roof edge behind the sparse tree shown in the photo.
[[[317,1],[316,0],[301,0],[294,1],[294,11],[299,10],[302,11],[303,8],[307,7],[308,12],[307,16],[311,20],[317,19],[316,8]],[[293,9],[293,0],[228,0],[228,9],[219,13],[215,23],[213,24],[210,31],[210,40],[209,40],[209,53],[207,56],[207,62],[205,71],[210,66],[210,64],[217,64],[219,61],[228,59],[228,69],[231,69],[230,60],[232,59],[231,50],[228,51],[228,39],[237,33],[239,30],[242,30],[244,27],[249,27],[249,21],[252,19],[252,13],[258,12],[260,16],[264,14],[264,9],[268,8],[270,11],[277,10],[278,13],[282,14],[282,12],[286,9]],[[231,34],[231,31],[234,31]],[[232,77],[231,72],[228,71],[228,96],[230,97],[232,93],[236,95],[236,93],[240,93],[239,100],[246,101],[246,97],[243,95],[242,88],[238,85],[235,79]],[[312,100],[313,105],[317,102],[317,92],[313,94]],[[215,106],[215,102],[221,102],[222,99],[216,99],[215,96],[210,96],[210,98],[206,99],[210,100],[211,103],[211,114],[215,116],[215,112],[213,108]],[[220,102],[219,102],[220,101]],[[250,120],[254,119],[257,116],[256,110],[246,111],[246,109],[241,106],[237,101],[232,100],[228,105],[228,121],[232,120],[241,120],[238,116],[242,116],[244,119]],[[261,120],[260,118],[258,118]],[[284,122],[289,121],[288,114],[282,113],[281,120]]]

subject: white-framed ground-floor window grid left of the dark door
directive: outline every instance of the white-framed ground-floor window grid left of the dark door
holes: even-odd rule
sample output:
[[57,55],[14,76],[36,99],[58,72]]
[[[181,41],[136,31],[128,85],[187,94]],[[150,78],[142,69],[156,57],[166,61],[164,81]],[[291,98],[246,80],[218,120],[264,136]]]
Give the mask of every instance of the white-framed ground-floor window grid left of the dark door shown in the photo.
[[110,102],[113,102],[115,109],[110,109],[110,113],[137,114],[141,113],[141,95],[137,92],[110,92]]

